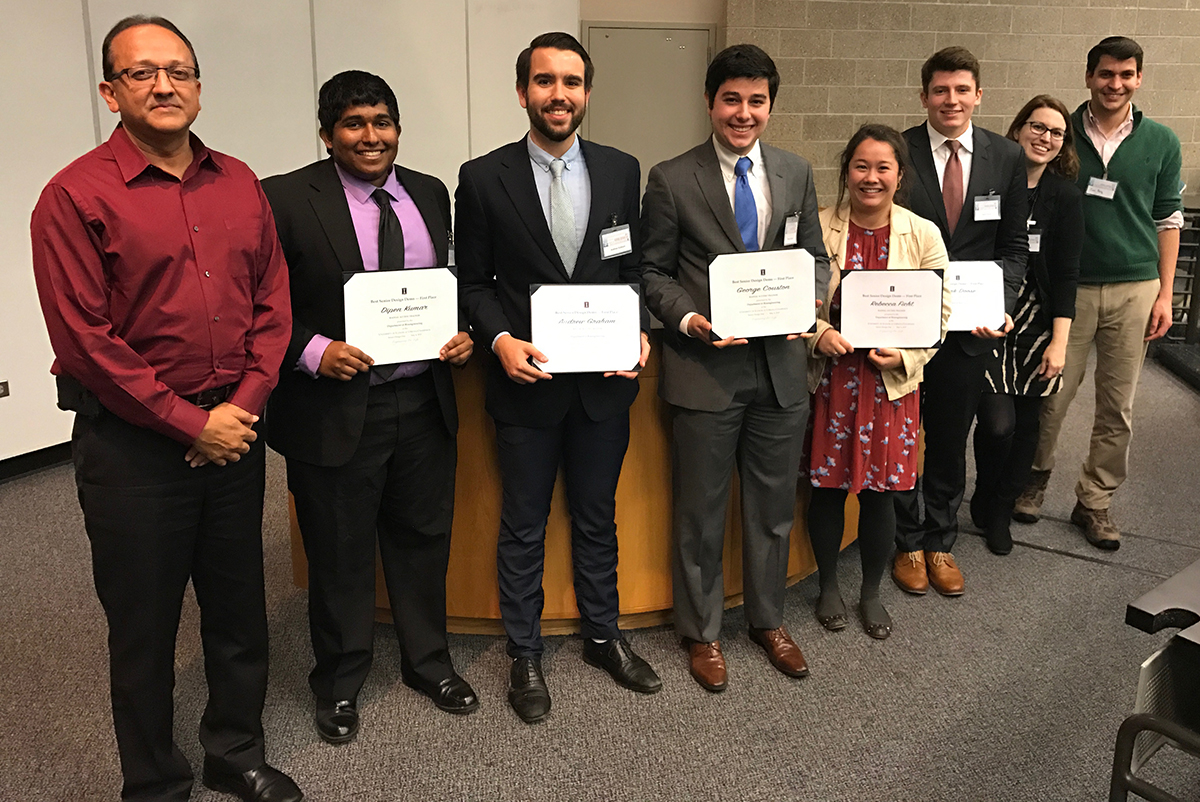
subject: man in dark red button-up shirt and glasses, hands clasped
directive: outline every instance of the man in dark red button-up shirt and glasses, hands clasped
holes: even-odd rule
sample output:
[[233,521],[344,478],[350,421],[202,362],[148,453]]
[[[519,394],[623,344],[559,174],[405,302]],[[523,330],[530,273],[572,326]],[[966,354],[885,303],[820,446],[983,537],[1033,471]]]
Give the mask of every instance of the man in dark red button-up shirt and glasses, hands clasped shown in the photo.
[[190,132],[187,38],[118,23],[100,92],[121,125],[47,185],[34,271],[60,406],[77,412],[76,483],[109,629],[125,800],[186,800],[172,736],[175,633],[188,579],[204,626],[204,782],[302,798],[265,762],[264,447],[253,430],[292,331],[270,207],[242,162]]

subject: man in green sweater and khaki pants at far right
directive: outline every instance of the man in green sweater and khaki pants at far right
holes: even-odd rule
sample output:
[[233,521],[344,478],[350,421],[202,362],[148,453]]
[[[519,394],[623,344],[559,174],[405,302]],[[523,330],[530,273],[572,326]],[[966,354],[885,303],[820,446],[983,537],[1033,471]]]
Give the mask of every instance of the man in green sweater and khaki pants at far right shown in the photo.
[[1124,36],[1110,36],[1087,53],[1092,100],[1072,115],[1086,225],[1075,321],[1062,391],[1042,406],[1033,473],[1013,514],[1019,521],[1038,519],[1055,443],[1094,345],[1096,423],[1070,520],[1088,543],[1110,551],[1121,545],[1109,504],[1126,478],[1134,391],[1146,343],[1171,325],[1183,227],[1180,140],[1133,106],[1141,64],[1141,47]]

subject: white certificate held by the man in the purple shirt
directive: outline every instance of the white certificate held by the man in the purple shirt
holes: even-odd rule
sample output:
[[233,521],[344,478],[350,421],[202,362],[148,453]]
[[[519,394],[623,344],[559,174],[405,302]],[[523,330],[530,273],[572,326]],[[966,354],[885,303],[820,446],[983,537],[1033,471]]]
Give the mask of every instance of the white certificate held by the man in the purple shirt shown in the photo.
[[346,342],[377,365],[437,359],[458,334],[458,280],[449,268],[346,273]]

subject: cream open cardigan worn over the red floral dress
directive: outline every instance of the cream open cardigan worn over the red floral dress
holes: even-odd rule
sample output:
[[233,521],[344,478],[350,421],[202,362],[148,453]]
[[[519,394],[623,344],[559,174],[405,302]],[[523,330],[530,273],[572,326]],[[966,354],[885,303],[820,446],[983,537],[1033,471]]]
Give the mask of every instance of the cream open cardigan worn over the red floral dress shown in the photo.
[[[841,209],[826,209],[821,213],[821,234],[824,240],[826,252],[829,253],[829,269],[833,275],[829,279],[829,293],[824,303],[817,310],[817,330],[809,340],[809,388],[816,389],[821,384],[821,376],[824,373],[828,357],[817,352],[817,340],[829,325],[829,303],[833,300],[834,291],[841,279],[841,270],[846,264],[846,241],[850,237],[850,207]],[[918,217],[907,209],[892,205],[890,232],[888,234],[888,270],[916,270],[918,268],[944,270],[949,264],[946,256],[946,245],[937,226]],[[946,339],[946,324],[950,319],[950,292],[942,285],[942,339]],[[851,343],[853,345],[853,343]],[[920,384],[922,370],[937,348],[902,348],[900,358],[904,360],[900,367],[881,371],[883,387],[887,388],[888,400],[895,401],[908,395]]]

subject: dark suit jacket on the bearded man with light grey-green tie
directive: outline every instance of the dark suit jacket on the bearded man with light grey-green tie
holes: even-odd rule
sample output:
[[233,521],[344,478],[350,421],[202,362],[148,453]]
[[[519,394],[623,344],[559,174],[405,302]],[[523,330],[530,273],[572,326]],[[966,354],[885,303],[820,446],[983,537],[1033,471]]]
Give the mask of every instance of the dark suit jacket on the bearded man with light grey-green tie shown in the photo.
[[[508,331],[530,339],[529,285],[641,283],[637,160],[614,148],[580,139],[592,182],[592,213],[570,277],[546,223],[524,139],[474,158],[458,170],[455,192],[455,256],[462,307],[475,342],[491,348]],[[600,232],[628,223],[634,250],[600,258]],[[642,329],[649,315],[642,310]],[[498,359],[487,376],[487,411],[497,420],[521,426],[550,426],[566,415],[578,395],[592,420],[624,412],[637,396],[637,382],[600,373],[554,373],[551,379],[518,384]]]

